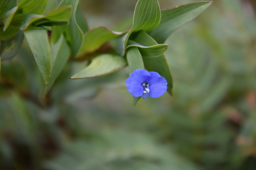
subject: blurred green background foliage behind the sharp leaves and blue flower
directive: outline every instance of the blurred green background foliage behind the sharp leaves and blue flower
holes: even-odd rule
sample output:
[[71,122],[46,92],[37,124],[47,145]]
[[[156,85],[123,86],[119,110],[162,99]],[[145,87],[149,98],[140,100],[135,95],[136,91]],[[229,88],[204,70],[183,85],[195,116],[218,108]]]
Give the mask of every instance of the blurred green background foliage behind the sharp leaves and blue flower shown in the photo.
[[[80,0],[90,29],[132,27],[137,0]],[[161,9],[191,0],[159,0]],[[1,63],[0,169],[256,169],[256,3],[214,0],[165,53],[174,94],[133,105],[129,70],[70,80],[47,98],[26,40]]]

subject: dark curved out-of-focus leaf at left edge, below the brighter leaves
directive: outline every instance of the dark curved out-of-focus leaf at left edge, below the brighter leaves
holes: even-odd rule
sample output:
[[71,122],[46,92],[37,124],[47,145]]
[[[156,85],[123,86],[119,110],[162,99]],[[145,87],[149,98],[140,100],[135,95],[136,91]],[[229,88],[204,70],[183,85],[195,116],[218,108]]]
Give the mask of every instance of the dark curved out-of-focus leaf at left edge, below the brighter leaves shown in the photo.
[[1,60],[6,60],[14,57],[20,47],[22,46],[24,34],[22,31],[18,31],[12,38],[2,41],[0,45]]

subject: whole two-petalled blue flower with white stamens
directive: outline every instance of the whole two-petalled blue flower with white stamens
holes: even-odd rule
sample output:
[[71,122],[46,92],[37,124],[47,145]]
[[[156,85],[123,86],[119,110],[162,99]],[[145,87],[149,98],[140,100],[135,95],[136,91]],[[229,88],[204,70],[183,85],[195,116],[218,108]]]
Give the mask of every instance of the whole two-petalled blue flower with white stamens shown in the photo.
[[167,90],[167,81],[158,72],[136,69],[125,81],[128,91],[135,97],[143,99],[158,98]]

